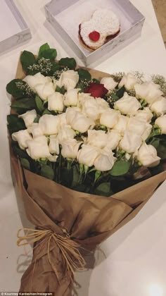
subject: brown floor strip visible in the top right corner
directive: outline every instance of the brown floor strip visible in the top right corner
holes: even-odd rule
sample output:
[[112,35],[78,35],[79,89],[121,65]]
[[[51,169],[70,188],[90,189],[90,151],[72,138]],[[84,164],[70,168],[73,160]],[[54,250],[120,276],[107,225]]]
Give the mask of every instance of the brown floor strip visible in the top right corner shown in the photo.
[[152,0],[155,8],[155,14],[158,18],[162,38],[166,46],[166,0]]

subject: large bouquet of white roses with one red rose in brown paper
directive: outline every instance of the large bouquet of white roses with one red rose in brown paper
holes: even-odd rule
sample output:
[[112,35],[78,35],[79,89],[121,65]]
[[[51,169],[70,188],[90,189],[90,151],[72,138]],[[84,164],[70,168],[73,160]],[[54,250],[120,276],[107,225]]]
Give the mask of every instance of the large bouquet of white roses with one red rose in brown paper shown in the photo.
[[[110,76],[77,68],[74,58],[61,58],[59,62],[55,58],[56,50],[50,49],[48,44],[40,47],[37,58],[28,51],[21,54],[20,62],[26,76],[12,80],[6,87],[15,98],[11,104],[12,113],[8,115],[8,131],[12,138],[12,153],[19,157],[25,168],[26,185],[20,185],[24,199],[27,201],[32,197],[31,202],[37,203],[38,210],[44,211],[42,214],[54,221],[60,231],[63,228],[63,235],[65,229],[65,234],[77,241],[78,246],[89,248],[113,232],[117,224],[132,212],[132,206],[145,201],[165,178],[165,173],[161,172],[166,158],[166,82],[158,75],[149,81],[144,81],[138,73]],[[16,166],[15,160],[13,166]],[[20,170],[19,166],[17,170]],[[151,181],[143,181],[159,173],[161,177],[151,178],[152,187]],[[20,175],[18,179],[23,179]],[[61,185],[70,190],[66,191]],[[145,190],[143,197],[131,199],[130,195],[135,191],[122,190],[132,185],[135,185],[131,187],[134,190],[139,186],[144,189],[150,186],[149,195]],[[57,195],[54,203],[53,195]],[[68,195],[68,201],[64,195]],[[70,208],[70,215],[64,202]],[[78,209],[72,203],[79,204]],[[35,211],[35,206],[30,206],[31,211]],[[71,215],[71,211],[77,214]],[[27,216],[38,229],[48,230],[51,221],[43,223],[41,214],[40,218],[31,214],[27,210]],[[87,214],[91,217],[85,222]],[[71,223],[65,221],[68,215]],[[77,219],[84,221],[80,229]],[[53,227],[50,226],[57,235],[59,229]],[[41,237],[39,242],[43,242]],[[56,244],[59,254],[57,241]],[[43,257],[46,254],[48,252],[44,252]],[[35,260],[41,259],[38,255],[34,252]],[[63,257],[63,252],[60,256]],[[75,256],[71,260],[75,261]],[[64,265],[65,275],[71,273],[68,262]],[[35,282],[34,275],[36,278],[39,275],[39,271],[34,272],[35,266],[32,261],[30,270],[23,277],[21,290],[30,289],[32,270]],[[60,267],[60,274],[61,269],[63,267]],[[57,290],[56,295],[68,295],[64,291],[70,285],[69,278],[63,292]],[[57,283],[54,285],[51,283],[46,289],[52,291]],[[39,287],[38,278],[31,288],[41,290]]]

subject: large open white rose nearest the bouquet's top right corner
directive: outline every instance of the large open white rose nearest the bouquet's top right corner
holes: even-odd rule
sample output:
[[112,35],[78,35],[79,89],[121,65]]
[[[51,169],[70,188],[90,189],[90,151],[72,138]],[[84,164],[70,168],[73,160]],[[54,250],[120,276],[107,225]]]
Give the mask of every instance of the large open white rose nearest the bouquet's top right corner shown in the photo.
[[162,96],[163,92],[160,90],[160,85],[156,85],[154,82],[144,82],[143,84],[136,83],[134,85],[136,97],[145,99],[148,104],[153,103],[155,99]]

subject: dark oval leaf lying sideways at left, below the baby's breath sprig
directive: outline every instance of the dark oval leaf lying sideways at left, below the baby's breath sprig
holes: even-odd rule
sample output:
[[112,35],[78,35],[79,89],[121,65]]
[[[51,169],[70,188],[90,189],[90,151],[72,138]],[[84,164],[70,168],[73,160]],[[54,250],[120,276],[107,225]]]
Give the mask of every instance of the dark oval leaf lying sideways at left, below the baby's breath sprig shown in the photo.
[[26,111],[35,109],[36,104],[32,98],[23,98],[13,101],[11,104],[11,109],[15,110],[17,113],[25,113]]

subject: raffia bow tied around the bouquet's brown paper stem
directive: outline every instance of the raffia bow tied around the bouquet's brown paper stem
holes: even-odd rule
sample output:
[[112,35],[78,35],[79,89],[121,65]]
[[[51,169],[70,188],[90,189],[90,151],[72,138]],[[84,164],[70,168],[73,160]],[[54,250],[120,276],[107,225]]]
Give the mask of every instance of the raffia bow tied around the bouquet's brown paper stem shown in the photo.
[[[20,232],[24,231],[25,235],[20,235]],[[49,264],[51,268],[56,273],[56,277],[58,279],[58,283],[60,283],[60,278],[58,275],[58,270],[56,264],[54,264],[51,259],[51,240],[54,240],[65,262],[65,271],[69,271],[70,279],[73,281],[75,271],[84,270],[84,266],[86,262],[82,257],[82,254],[79,252],[80,245],[70,238],[70,235],[64,230],[64,235],[58,235],[53,232],[53,230],[49,229],[39,229],[34,230],[32,228],[21,228],[18,230],[18,241],[17,245],[25,246],[29,244],[33,244],[34,242],[39,242],[34,248],[41,245],[43,242],[47,240],[47,257],[49,260]],[[35,264],[34,264],[35,268]]]

